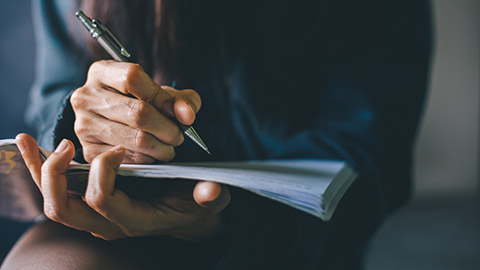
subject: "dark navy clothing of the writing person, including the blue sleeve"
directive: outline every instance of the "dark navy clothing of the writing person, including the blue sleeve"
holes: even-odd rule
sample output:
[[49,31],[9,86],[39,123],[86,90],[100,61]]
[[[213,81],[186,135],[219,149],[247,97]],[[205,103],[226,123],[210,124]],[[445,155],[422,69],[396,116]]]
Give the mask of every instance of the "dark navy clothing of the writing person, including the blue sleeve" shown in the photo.
[[[192,1],[193,80],[178,85],[201,95],[195,128],[214,154],[186,140],[176,161],[340,159],[361,177],[328,223],[234,190],[218,268],[360,268],[369,236],[409,195],[429,1],[222,3]],[[69,22],[74,11],[69,1],[34,1],[39,63],[28,119],[48,148],[63,137],[80,148],[68,96],[93,59]],[[203,31],[212,20],[226,29],[225,59]]]

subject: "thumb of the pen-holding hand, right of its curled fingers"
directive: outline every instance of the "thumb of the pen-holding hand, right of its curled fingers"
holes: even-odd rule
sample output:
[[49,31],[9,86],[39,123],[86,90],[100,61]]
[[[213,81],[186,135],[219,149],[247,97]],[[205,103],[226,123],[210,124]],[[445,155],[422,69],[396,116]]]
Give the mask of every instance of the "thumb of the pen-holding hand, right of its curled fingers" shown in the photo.
[[202,106],[200,95],[191,89],[176,90],[168,86],[163,88],[174,98],[173,111],[176,119],[184,125],[193,124],[195,115]]

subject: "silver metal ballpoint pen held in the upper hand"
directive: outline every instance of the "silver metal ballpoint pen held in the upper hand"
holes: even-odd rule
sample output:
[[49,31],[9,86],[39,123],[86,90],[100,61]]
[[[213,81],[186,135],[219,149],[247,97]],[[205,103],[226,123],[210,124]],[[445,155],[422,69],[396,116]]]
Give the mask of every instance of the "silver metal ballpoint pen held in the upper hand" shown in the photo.
[[[82,22],[83,26],[88,30],[90,35],[98,41],[98,43],[110,54],[113,59],[120,62],[128,62],[130,53],[122,46],[122,44],[115,38],[115,36],[103,25],[100,21],[90,19],[82,11],[75,13],[75,16]],[[177,122],[180,129],[187,135],[192,141],[200,146],[205,152],[211,155],[207,146],[197,134],[192,126],[186,126]]]

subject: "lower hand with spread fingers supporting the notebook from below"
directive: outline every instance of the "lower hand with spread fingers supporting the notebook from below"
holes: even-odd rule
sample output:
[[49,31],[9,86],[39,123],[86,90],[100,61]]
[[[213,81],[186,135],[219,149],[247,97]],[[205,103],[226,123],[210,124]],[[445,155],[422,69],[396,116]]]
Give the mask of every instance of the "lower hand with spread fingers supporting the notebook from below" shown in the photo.
[[53,221],[106,240],[170,235],[197,241],[222,232],[220,213],[230,202],[225,186],[198,182],[193,193],[179,192],[152,201],[133,200],[115,188],[115,169],[125,155],[124,148],[117,146],[93,160],[82,200],[67,192],[65,171],[74,156],[70,141],[63,140],[43,164],[31,136],[19,134],[16,141],[42,192],[44,213]]

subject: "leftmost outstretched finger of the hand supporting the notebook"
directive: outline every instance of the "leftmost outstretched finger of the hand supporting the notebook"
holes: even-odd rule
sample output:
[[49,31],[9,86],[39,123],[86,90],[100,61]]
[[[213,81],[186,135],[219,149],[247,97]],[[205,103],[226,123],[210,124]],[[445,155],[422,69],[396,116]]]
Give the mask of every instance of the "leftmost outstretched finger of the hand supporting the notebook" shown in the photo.
[[38,144],[35,139],[25,133],[18,134],[15,138],[17,147],[22,154],[33,181],[41,190],[42,160],[40,158]]

